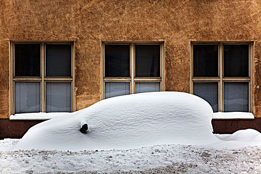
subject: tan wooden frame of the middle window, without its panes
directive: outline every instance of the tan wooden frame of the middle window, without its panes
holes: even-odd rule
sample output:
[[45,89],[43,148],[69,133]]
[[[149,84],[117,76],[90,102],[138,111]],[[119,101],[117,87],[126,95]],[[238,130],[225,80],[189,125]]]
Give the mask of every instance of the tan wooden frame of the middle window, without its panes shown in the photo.
[[[160,91],[164,91],[164,42],[101,42],[101,99],[105,99],[106,82],[129,82],[130,94],[135,93],[136,82],[159,82]],[[105,45],[130,45],[130,77],[108,78],[105,77]],[[160,77],[138,78],[135,77],[135,45],[160,45]]]

